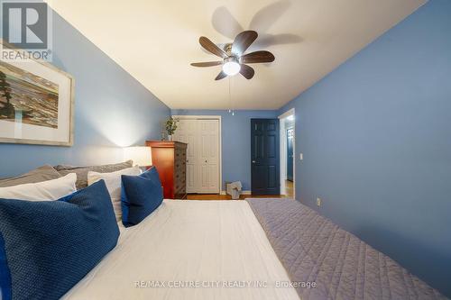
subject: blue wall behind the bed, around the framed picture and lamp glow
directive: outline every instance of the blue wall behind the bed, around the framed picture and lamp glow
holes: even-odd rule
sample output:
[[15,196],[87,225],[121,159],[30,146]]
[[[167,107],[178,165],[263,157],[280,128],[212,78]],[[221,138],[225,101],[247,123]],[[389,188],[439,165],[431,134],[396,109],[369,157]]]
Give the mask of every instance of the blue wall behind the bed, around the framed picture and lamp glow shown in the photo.
[[75,77],[75,144],[0,144],[0,177],[44,163],[116,162],[120,147],[160,139],[170,109],[56,13],[53,65]]

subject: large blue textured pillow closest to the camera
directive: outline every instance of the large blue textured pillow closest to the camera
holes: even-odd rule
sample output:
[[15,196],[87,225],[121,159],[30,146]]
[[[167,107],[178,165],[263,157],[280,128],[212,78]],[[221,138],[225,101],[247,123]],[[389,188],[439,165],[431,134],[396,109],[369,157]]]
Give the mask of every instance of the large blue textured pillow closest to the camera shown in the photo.
[[59,299],[118,237],[103,180],[58,201],[0,199],[0,295]]

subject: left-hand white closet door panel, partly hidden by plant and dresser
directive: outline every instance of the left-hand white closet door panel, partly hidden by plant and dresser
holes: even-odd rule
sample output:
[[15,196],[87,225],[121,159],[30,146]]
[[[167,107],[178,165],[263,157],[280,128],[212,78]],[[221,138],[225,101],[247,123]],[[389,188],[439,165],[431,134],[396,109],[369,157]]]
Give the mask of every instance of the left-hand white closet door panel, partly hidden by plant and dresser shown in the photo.
[[197,120],[180,120],[174,140],[188,144],[187,148],[187,193],[197,192],[196,164],[198,157],[198,122]]

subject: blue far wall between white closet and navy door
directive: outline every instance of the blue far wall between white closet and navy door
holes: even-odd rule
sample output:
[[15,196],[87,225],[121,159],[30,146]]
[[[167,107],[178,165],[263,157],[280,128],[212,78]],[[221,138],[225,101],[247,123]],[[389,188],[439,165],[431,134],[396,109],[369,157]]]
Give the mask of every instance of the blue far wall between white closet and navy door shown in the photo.
[[277,118],[277,111],[171,110],[171,114],[221,115],[223,188],[225,181],[241,180],[251,189],[251,119]]

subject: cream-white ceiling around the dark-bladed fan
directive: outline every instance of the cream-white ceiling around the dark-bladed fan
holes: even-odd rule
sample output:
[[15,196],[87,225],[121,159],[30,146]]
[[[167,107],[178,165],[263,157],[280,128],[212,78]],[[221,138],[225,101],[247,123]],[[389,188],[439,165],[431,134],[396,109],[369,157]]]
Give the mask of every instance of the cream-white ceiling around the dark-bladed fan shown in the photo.
[[[235,109],[277,109],[399,23],[427,0],[49,0],[98,48],[174,109],[228,109],[228,79],[198,38],[233,41],[259,33],[252,50],[270,50],[255,76],[231,77]],[[94,67],[94,66],[93,66]],[[369,70],[371,71],[371,70]]]

